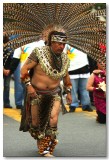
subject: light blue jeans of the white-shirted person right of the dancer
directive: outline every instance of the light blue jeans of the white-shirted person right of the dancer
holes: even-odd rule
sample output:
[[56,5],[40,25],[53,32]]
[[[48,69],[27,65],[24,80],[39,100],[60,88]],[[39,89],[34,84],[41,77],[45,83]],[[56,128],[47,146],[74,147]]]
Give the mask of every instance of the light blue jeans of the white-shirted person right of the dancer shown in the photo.
[[72,82],[72,104],[71,107],[78,107],[79,100],[78,100],[78,91],[80,94],[80,103],[82,108],[85,109],[86,106],[90,106],[90,97],[89,92],[86,90],[88,78],[77,78],[71,79]]

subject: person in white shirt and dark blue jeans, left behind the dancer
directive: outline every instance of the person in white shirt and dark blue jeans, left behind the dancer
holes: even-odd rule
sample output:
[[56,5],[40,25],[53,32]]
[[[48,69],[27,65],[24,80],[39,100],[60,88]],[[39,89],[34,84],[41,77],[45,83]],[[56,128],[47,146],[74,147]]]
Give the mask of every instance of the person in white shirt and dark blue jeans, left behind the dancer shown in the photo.
[[15,88],[15,104],[17,109],[23,109],[25,86],[20,79],[20,70],[24,62],[34,49],[34,46],[43,46],[44,41],[36,41],[24,46],[21,46],[14,50],[13,59],[10,64],[10,73],[14,76],[14,88]]

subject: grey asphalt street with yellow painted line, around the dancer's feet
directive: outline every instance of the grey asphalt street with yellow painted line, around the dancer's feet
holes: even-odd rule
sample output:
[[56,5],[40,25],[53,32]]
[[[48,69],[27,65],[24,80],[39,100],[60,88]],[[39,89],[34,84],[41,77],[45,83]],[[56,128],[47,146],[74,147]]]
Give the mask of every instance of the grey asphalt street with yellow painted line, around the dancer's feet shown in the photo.
[[[11,101],[14,105],[13,88]],[[40,157],[36,141],[28,132],[19,131],[20,110],[14,107],[4,109],[3,112],[3,156]],[[107,156],[107,128],[105,124],[96,122],[95,109],[87,112],[77,108],[72,113],[60,113],[58,130],[59,143],[54,150],[55,157]]]

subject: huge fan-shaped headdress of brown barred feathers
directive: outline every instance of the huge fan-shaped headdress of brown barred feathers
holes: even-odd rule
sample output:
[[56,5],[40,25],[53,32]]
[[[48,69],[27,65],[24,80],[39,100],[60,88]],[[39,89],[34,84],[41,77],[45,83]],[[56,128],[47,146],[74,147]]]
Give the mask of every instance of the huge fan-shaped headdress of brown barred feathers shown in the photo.
[[94,60],[106,62],[100,44],[106,46],[106,26],[99,16],[106,10],[89,10],[94,3],[4,3],[3,30],[19,37],[4,44],[4,48],[16,49],[47,36],[51,30],[63,30],[68,43]]

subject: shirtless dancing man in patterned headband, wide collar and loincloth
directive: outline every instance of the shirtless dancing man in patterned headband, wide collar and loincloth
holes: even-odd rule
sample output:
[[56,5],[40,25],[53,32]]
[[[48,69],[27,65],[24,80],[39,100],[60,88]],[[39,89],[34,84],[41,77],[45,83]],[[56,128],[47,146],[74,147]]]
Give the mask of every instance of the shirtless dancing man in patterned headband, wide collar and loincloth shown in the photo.
[[[35,48],[21,68],[21,79],[27,88],[25,112],[20,130],[30,132],[37,139],[39,153],[52,156],[57,144],[57,123],[62,105],[60,81],[63,79],[67,101],[72,102],[72,84],[68,75],[69,59],[63,52],[67,36],[52,31],[48,46]],[[33,74],[29,76],[29,71]],[[62,107],[63,109],[63,107]]]

